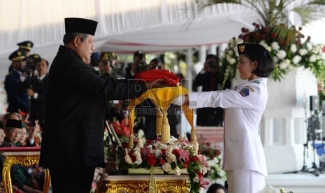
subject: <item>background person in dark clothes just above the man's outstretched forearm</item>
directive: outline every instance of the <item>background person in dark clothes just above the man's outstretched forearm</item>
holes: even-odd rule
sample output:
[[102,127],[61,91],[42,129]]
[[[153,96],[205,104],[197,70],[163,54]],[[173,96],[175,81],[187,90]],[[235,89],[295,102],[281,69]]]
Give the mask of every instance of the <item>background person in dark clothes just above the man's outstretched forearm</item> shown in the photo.
[[[144,65],[145,64],[145,65]],[[147,64],[145,63],[145,52],[138,50],[133,53],[133,63],[125,69],[125,78],[131,79],[136,76],[136,73],[145,71]]]

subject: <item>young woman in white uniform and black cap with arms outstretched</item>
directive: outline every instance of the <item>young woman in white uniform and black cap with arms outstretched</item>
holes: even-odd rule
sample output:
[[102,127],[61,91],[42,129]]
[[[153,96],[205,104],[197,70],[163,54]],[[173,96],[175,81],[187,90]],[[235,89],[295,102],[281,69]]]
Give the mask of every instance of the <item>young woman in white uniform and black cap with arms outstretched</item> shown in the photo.
[[268,101],[267,77],[274,70],[268,50],[257,43],[237,45],[240,78],[233,88],[194,92],[173,103],[190,108],[224,108],[224,170],[229,193],[257,193],[265,186],[266,161],[259,123]]

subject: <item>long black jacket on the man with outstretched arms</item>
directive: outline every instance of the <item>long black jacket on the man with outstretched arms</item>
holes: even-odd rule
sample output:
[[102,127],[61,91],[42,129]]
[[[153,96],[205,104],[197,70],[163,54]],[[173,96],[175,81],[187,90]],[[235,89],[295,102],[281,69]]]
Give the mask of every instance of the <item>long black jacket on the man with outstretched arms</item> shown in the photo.
[[40,166],[103,167],[103,100],[129,99],[144,91],[133,81],[104,80],[61,45],[49,72]]

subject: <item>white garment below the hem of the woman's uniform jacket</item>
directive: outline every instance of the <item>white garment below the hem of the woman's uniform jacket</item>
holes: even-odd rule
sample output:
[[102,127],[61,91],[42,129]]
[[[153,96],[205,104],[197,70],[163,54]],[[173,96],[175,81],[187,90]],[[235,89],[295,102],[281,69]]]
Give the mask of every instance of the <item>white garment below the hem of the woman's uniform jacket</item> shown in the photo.
[[265,186],[265,176],[252,170],[226,171],[229,193],[257,193]]

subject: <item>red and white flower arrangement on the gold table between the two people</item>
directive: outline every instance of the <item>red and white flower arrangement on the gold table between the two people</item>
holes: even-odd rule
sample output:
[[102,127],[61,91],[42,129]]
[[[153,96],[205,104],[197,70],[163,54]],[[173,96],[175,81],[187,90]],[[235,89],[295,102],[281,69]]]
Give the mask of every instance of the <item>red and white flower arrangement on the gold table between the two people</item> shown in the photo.
[[192,145],[185,136],[184,138],[172,138],[170,143],[161,143],[157,140],[147,141],[143,137],[143,131],[139,131],[133,137],[133,148],[127,148],[127,138],[122,142],[124,147],[124,159],[120,162],[122,169],[150,169],[152,166],[159,167],[165,173],[173,171],[178,176],[182,169],[187,169],[191,190],[199,192],[200,188],[205,188],[209,183],[203,178],[210,170],[204,155],[199,155],[198,144]]

